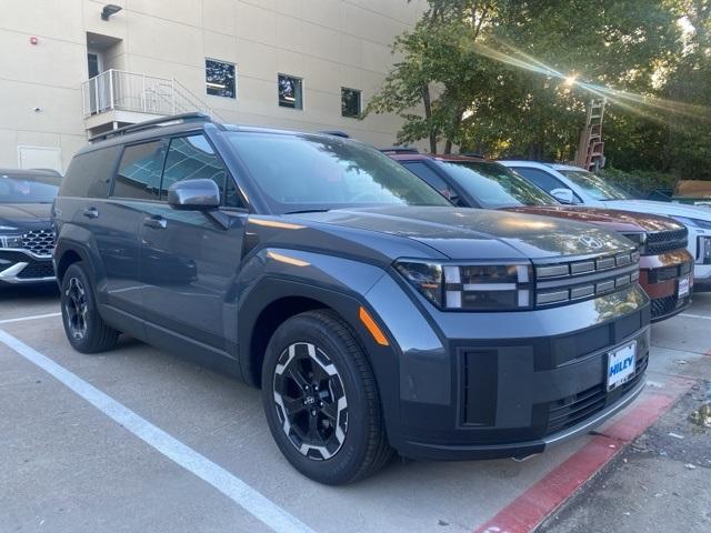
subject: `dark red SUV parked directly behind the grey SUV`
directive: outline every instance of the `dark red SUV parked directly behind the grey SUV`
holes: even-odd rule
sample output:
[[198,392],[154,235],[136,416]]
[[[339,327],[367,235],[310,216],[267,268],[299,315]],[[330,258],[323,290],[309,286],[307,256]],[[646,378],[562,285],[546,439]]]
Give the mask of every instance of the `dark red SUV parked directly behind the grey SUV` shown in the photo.
[[687,228],[675,220],[562,205],[523,177],[483,158],[430,155],[412,150],[384,152],[458,205],[577,220],[620,232],[639,247],[640,284],[652,300],[652,322],[674,316],[691,305],[693,257],[685,250]]

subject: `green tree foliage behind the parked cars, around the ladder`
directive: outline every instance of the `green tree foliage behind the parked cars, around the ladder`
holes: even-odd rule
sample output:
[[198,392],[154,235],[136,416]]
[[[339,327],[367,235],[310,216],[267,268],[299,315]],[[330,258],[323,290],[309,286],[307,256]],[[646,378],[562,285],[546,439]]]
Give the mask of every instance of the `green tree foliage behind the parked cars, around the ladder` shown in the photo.
[[404,119],[398,142],[572,160],[598,84],[629,91],[609,101],[608,163],[711,179],[711,0],[428,4],[367,108]]

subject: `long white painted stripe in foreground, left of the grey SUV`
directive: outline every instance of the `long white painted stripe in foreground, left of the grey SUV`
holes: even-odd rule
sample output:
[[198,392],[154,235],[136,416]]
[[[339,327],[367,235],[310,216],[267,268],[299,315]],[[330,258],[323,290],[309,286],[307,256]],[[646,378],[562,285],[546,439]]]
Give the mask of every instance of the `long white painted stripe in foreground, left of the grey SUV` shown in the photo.
[[289,514],[222,466],[219,466],[204,455],[201,455],[172,435],[166,433],[160,428],[151,424],[126,405],[87,383],[48,356],[28,346],[19,339],[0,330],[0,342],[51,374],[103,414],[141,439],[149,446],[211,484],[273,531],[278,533],[313,533],[313,530],[299,519]]

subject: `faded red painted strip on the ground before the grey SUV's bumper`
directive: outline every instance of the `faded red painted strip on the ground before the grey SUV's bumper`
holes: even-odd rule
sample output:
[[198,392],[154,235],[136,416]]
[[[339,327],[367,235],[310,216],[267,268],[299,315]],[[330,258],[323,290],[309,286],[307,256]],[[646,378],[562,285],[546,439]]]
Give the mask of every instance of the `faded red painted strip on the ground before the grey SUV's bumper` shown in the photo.
[[[683,391],[682,383],[674,383]],[[675,389],[675,386],[674,386]],[[588,444],[481,525],[475,533],[528,533],[568,500],[623,446],[641,435],[679,394],[650,394],[624,416],[605,428]]]

